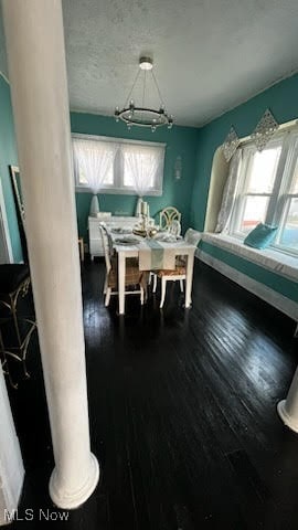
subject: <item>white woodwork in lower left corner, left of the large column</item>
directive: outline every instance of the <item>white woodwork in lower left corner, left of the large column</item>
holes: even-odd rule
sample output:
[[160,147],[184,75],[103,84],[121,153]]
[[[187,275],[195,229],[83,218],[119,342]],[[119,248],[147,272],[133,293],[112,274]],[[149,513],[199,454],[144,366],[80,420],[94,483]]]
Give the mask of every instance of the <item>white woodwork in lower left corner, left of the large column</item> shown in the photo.
[[0,367],[0,526],[10,522],[18,509],[24,468],[10,403]]

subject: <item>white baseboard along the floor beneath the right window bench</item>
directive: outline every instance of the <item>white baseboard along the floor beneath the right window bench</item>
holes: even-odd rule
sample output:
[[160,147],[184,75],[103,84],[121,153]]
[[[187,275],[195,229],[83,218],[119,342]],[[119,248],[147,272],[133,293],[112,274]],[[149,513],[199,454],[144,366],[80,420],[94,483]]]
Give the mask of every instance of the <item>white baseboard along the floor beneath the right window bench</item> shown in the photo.
[[243,274],[236,268],[226,265],[225,263],[221,262],[216,257],[211,256],[206,252],[201,251],[200,248],[195,251],[195,257],[204,262],[206,265],[215,268],[215,271],[219,271],[219,273],[232,279],[241,287],[249,290],[249,293],[253,293],[263,300],[267,301],[267,304],[270,304],[276,309],[279,309],[279,311],[285,312],[285,315],[287,315],[288,317],[298,321],[298,304],[290,300],[286,296],[276,293],[266,285],[256,282],[249,276],[246,276],[246,274]]

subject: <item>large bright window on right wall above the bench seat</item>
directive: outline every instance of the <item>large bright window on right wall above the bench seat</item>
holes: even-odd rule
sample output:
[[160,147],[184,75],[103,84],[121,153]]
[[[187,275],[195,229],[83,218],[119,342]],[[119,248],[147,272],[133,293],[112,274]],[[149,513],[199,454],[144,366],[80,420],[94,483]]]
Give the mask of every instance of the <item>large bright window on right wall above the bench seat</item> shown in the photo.
[[298,253],[298,131],[285,131],[262,151],[243,147],[230,233],[245,237],[259,222],[278,226],[277,248]]

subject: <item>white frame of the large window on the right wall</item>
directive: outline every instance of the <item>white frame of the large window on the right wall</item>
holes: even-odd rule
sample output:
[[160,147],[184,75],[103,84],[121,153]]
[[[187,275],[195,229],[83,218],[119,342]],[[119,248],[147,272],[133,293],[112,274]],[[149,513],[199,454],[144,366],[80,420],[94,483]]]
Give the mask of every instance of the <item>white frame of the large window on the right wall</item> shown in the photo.
[[[245,198],[251,197],[268,197],[268,208],[266,213],[265,223],[270,225],[277,225],[278,232],[275,239],[275,243],[270,245],[278,252],[298,256],[298,248],[289,247],[281,244],[281,235],[285,227],[287,214],[290,208],[290,201],[292,198],[298,198],[297,193],[290,193],[290,186],[294,179],[294,169],[298,160],[298,127],[289,130],[284,130],[277,134],[266,146],[268,149],[274,146],[280,146],[281,151],[276,168],[275,181],[270,193],[247,193],[247,186],[249,179],[249,165],[253,160],[253,155],[256,152],[256,148],[252,140],[243,144],[243,149],[248,151],[248,157],[245,157],[245,163],[241,168],[241,177],[237,186],[235,204],[233,208],[232,220],[230,225],[230,235],[240,240],[244,240],[247,233],[241,232],[241,220],[243,219]],[[251,151],[251,152],[249,152]]]

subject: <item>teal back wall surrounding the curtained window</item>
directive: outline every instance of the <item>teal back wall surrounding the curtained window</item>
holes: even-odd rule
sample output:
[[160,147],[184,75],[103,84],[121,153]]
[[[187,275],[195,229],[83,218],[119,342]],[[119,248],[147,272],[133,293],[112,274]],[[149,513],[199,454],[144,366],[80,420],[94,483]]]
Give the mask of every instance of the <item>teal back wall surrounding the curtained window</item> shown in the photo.
[[[94,114],[71,113],[72,132],[88,135],[109,136],[115,138],[131,138],[135,140],[160,141],[167,144],[164,157],[163,193],[161,197],[148,197],[146,200],[150,205],[152,216],[164,206],[174,205],[182,213],[182,229],[190,225],[190,205],[194,179],[199,129],[192,127],[173,126],[158,129],[156,132],[143,129],[127,130],[123,123],[116,123],[111,117]],[[174,179],[174,162],[178,156],[182,157],[182,178]],[[136,195],[99,195],[102,211],[134,215],[137,198]],[[87,218],[92,195],[89,193],[76,193],[78,231],[87,237]]]

